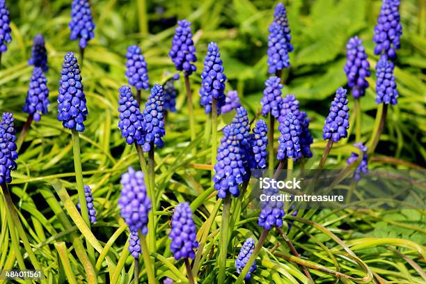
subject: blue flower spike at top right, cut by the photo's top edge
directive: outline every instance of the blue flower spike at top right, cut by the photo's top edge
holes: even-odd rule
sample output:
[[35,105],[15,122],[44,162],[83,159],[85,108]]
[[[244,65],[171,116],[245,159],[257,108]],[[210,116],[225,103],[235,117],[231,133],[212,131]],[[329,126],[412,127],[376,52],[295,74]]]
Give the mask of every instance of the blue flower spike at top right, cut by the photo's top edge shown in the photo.
[[390,60],[397,57],[396,50],[400,49],[402,36],[400,18],[400,1],[384,0],[377,18],[377,25],[374,26],[373,40],[376,43],[374,54],[379,55],[383,52]]

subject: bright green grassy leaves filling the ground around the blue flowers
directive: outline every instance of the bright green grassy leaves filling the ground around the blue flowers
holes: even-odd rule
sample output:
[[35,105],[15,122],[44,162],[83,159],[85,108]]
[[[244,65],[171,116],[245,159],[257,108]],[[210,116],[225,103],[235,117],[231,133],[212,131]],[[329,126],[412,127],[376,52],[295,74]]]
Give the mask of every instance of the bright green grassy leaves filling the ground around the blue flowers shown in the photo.
[[[187,282],[182,261],[171,258],[167,233],[173,206],[189,201],[196,212],[194,218],[198,232],[209,230],[207,239],[200,244],[196,265],[200,265],[200,283],[215,283],[218,274],[216,259],[219,255],[219,227],[221,205],[216,196],[203,195],[211,187],[210,143],[203,140],[207,116],[200,107],[198,90],[200,71],[207,50],[207,43],[218,42],[221,48],[225,74],[229,81],[227,90],[238,90],[242,104],[255,118],[260,110],[260,97],[267,79],[267,26],[271,22],[276,1],[205,0],[166,1],[152,3],[143,0],[93,0],[93,16],[96,24],[95,39],[90,41],[84,56],[82,77],[87,97],[88,120],[81,137],[81,162],[84,183],[93,190],[97,223],[92,233],[84,230],[84,223],[74,205],[77,203],[75,174],[70,132],[56,120],[57,90],[61,63],[67,51],[78,52],[78,43],[70,42],[70,2],[68,0],[13,0],[8,1],[12,20],[13,42],[1,58],[0,111],[11,111],[16,118],[19,134],[26,121],[22,105],[26,97],[32,67],[27,60],[36,33],[46,39],[49,55],[49,82],[51,105],[49,114],[33,123],[22,151],[19,153],[18,170],[13,173],[10,191],[29,243],[38,261],[45,268],[45,275],[52,282],[63,283],[65,273],[68,282],[73,275],[77,283],[87,281],[86,270],[81,264],[76,244],[80,239],[89,242],[95,253],[95,273],[99,283],[129,283],[133,278],[133,258],[127,251],[127,226],[120,218],[117,200],[120,194],[120,175],[128,166],[139,168],[134,147],[125,144],[117,129],[118,88],[127,84],[125,78],[125,52],[127,46],[139,44],[148,63],[150,84],[162,83],[164,72],[174,71],[168,58],[175,20],[186,18],[193,22],[198,62],[197,72],[191,76],[193,88],[196,133],[198,139],[190,143],[189,119],[184,81],[176,83],[180,90],[177,100],[178,113],[169,113],[166,123],[165,147],[156,150],[156,193],[161,200],[157,215],[157,253],[153,253],[157,278],[168,276]],[[345,86],[345,45],[355,35],[363,39],[374,70],[378,60],[372,50],[373,27],[379,14],[381,1],[368,0],[290,0],[285,1],[292,30],[294,52],[290,54],[290,70],[284,71],[283,93],[294,93],[301,102],[301,109],[311,118],[313,132],[313,158],[306,161],[306,168],[315,168],[324,150],[322,127],[335,90]],[[403,36],[402,48],[397,51],[395,77],[400,93],[397,106],[390,107],[388,118],[377,150],[370,156],[370,168],[422,168],[425,166],[426,149],[426,6],[424,1],[404,0],[400,8]],[[148,19],[149,33],[144,31]],[[362,141],[370,140],[374,127],[377,104],[374,103],[374,72],[368,79],[370,87],[361,99]],[[143,101],[148,95],[142,92]],[[353,100],[349,100],[353,108]],[[233,112],[219,118],[219,127],[229,123]],[[351,120],[353,123],[353,121]],[[354,130],[349,130],[354,133]],[[218,134],[218,139],[221,133]],[[278,141],[276,131],[275,141]],[[344,168],[352,143],[342,141],[331,150],[327,168]],[[276,142],[277,145],[277,142]],[[296,168],[299,164],[295,164]],[[68,195],[64,194],[64,190]],[[248,196],[248,194],[246,194]],[[196,202],[194,202],[196,200]],[[235,257],[246,237],[260,236],[257,226],[258,211],[246,209],[242,214],[232,214],[232,228],[228,246],[227,281],[235,281]],[[0,200],[1,235],[0,269],[17,268],[16,251],[11,247],[6,225],[6,206]],[[214,220],[208,219],[219,210]],[[77,214],[76,214],[77,212]],[[232,210],[231,210],[232,212]],[[239,213],[239,212],[237,212]],[[426,215],[424,210],[407,212],[366,210],[323,211],[306,219],[322,224],[315,230],[312,224],[296,223],[289,237],[294,246],[303,250],[303,259],[314,265],[322,265],[354,277],[363,278],[361,267],[334,254],[345,255],[350,247],[363,263],[370,267],[377,283],[424,283]],[[206,222],[206,220],[212,223]],[[286,219],[288,221],[288,219]],[[331,239],[337,235],[342,243]],[[380,239],[374,239],[374,238]],[[76,240],[77,239],[77,240]],[[64,248],[65,242],[66,249]],[[253,280],[259,283],[307,283],[308,278],[292,260],[272,254],[271,248],[282,242],[278,234],[271,233],[260,252],[258,270]],[[340,242],[340,241],[339,241]],[[85,242],[80,242],[80,244]],[[402,250],[400,248],[404,247]],[[399,251],[395,252],[395,248]],[[287,253],[285,242],[276,248]],[[65,251],[68,251],[65,252]],[[99,253],[102,251],[102,253]],[[31,260],[25,253],[27,268]],[[61,255],[65,253],[65,256]],[[403,253],[404,255],[402,255]],[[102,255],[102,258],[99,256]],[[106,256],[106,258],[105,258]],[[63,258],[69,259],[67,262]],[[197,262],[198,261],[198,262]],[[336,265],[336,263],[339,265]],[[339,268],[340,267],[340,268]],[[318,269],[309,269],[315,283],[331,283],[338,277]],[[422,280],[423,279],[423,280]],[[146,282],[141,269],[141,283]],[[351,280],[341,280],[353,283]],[[1,283],[2,281],[0,281]],[[66,282],[66,281],[65,281]]]

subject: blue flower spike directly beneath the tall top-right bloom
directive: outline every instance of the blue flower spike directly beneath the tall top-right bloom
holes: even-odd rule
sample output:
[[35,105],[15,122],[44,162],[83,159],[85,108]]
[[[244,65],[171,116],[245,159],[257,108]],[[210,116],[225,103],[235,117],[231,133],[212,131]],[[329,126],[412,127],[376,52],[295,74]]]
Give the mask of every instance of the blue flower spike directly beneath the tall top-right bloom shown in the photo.
[[376,65],[376,103],[397,104],[398,91],[396,89],[395,77],[393,76],[392,61],[386,55],[381,55]]

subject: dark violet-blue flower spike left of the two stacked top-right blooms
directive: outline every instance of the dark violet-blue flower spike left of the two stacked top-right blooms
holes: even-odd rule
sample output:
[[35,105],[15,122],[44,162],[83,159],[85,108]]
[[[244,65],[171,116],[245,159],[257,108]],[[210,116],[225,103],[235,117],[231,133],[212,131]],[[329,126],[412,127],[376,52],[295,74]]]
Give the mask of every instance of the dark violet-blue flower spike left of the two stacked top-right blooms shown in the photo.
[[352,95],[355,99],[365,95],[365,89],[368,88],[368,81],[365,78],[370,77],[370,63],[367,61],[367,54],[362,43],[358,36],[349,39],[346,45],[347,61],[343,68],[347,77],[347,85],[352,88]]

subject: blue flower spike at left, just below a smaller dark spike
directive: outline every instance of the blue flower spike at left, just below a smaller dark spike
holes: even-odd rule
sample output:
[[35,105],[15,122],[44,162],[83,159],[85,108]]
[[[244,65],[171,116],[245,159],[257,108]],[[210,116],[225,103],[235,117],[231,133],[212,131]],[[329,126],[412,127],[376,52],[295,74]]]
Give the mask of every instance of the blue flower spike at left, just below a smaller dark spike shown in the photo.
[[31,76],[29,90],[22,110],[32,115],[34,120],[39,121],[41,115],[47,113],[47,107],[49,107],[47,79],[41,68],[36,67]]

